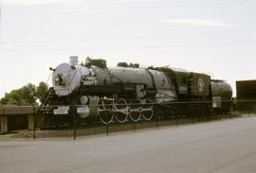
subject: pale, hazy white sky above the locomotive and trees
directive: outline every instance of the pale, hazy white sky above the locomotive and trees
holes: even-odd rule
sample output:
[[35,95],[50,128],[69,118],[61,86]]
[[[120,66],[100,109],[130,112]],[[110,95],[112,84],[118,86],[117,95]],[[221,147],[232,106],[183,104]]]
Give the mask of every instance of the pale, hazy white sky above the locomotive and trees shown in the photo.
[[[0,97],[77,55],[256,79],[256,0],[0,0]],[[235,93],[235,92],[234,92]]]

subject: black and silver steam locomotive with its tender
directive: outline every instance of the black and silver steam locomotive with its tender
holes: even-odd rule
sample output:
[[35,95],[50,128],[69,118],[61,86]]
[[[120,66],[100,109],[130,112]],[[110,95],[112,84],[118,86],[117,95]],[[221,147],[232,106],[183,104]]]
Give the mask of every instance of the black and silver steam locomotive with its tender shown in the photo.
[[79,63],[75,56],[50,69],[52,88],[42,107],[50,108],[46,113],[52,122],[68,119],[70,112],[81,122],[98,117],[110,124],[150,121],[155,111],[162,116],[189,117],[230,109],[230,85],[207,74],[169,66],[140,68],[126,62],[108,68],[104,60],[87,58]]

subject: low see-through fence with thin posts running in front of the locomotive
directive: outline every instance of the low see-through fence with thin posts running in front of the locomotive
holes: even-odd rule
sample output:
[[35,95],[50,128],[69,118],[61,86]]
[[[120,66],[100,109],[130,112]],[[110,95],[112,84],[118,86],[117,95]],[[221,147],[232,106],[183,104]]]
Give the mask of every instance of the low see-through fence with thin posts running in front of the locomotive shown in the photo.
[[[229,108],[229,109],[228,109]],[[7,114],[1,107],[1,133],[9,130],[25,129],[13,137],[51,138],[77,137],[86,135],[109,135],[120,131],[159,129],[198,122],[241,117],[256,112],[256,100],[222,101],[216,106],[212,101],[173,102],[173,103],[105,103],[101,105],[56,105],[37,108],[24,116]],[[90,113],[93,112],[93,113]],[[15,118],[14,118],[15,117]],[[13,122],[28,122],[27,125]],[[26,124],[26,123],[25,123]]]

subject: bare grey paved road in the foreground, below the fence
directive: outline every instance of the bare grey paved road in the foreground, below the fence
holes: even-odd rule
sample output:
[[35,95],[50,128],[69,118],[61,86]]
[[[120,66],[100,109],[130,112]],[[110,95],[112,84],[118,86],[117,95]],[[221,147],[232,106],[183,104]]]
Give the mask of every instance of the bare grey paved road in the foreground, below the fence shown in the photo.
[[77,141],[0,141],[0,172],[255,173],[256,117]]

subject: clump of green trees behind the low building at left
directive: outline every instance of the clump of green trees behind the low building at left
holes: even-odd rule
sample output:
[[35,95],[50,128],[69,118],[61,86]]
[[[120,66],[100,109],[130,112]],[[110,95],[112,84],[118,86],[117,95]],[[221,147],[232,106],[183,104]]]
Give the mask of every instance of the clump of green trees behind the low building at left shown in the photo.
[[36,105],[37,99],[43,100],[48,90],[48,86],[45,82],[40,82],[39,86],[28,83],[20,89],[13,90],[9,94],[6,94],[0,103],[3,105]]

